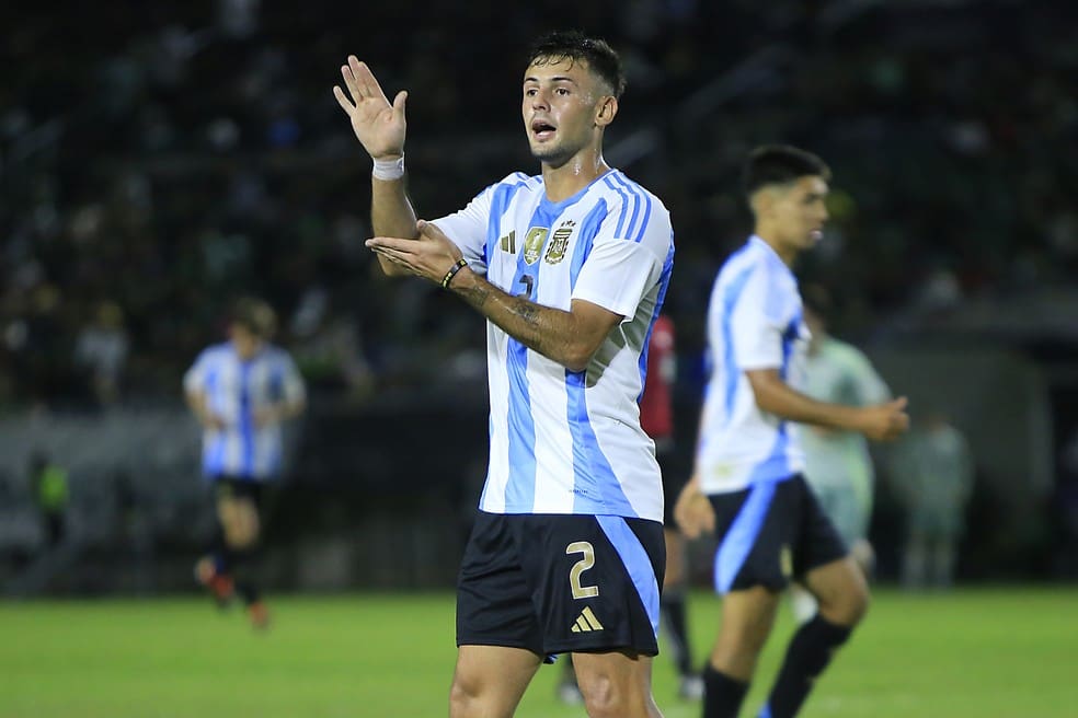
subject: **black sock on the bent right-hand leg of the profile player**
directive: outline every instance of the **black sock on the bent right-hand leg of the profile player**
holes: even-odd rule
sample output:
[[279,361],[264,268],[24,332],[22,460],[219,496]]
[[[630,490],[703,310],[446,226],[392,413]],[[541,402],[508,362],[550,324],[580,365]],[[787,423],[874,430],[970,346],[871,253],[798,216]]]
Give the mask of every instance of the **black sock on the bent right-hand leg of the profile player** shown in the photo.
[[812,691],[816,678],[830,662],[835,649],[846,642],[852,628],[829,623],[816,614],[790,640],[782,669],[767,699],[769,718],[795,716]]

